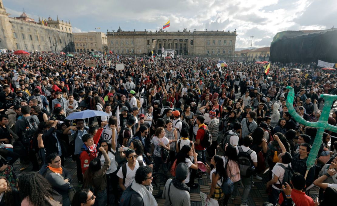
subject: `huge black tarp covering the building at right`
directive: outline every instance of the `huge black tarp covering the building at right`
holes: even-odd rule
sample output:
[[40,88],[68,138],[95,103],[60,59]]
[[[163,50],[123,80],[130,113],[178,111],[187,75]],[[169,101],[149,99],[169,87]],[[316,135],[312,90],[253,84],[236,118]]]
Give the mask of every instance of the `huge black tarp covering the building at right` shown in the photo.
[[272,42],[269,61],[337,63],[337,30],[312,33]]

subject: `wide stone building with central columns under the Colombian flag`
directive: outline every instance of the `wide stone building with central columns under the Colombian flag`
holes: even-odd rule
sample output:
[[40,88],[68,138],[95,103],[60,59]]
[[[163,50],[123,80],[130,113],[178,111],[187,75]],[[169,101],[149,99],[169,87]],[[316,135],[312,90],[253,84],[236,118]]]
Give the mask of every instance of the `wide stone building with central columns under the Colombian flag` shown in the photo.
[[109,50],[119,54],[161,53],[172,49],[180,55],[234,56],[236,31],[123,31],[107,32]]

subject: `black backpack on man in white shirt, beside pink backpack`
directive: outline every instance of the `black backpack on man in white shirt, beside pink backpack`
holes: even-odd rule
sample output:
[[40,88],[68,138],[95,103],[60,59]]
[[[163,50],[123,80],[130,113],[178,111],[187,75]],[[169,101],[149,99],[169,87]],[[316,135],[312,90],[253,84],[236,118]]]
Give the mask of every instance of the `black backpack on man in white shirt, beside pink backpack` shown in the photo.
[[242,147],[239,146],[239,165],[240,165],[240,176],[242,177],[250,177],[254,171],[253,161],[251,160],[250,154],[253,150],[249,149],[247,152],[242,150]]

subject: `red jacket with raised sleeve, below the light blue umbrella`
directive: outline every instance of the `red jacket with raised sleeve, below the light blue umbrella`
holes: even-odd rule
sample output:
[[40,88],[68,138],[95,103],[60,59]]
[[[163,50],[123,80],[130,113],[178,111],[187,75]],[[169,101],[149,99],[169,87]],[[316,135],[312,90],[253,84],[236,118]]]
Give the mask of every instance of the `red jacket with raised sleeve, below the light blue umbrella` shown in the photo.
[[97,133],[94,136],[94,145],[92,147],[93,148],[92,150],[89,150],[89,147],[83,144],[82,152],[80,153],[82,174],[84,174],[85,171],[88,170],[90,161],[97,157],[96,147],[97,147],[99,138],[101,137],[102,131],[103,131],[103,128],[101,127],[97,130]]

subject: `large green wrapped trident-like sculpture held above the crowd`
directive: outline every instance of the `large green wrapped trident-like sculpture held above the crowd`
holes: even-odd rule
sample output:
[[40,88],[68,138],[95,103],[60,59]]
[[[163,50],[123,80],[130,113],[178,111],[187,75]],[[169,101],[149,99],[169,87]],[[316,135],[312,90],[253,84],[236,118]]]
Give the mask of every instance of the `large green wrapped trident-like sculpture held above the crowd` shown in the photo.
[[289,89],[289,93],[287,96],[287,101],[286,101],[286,105],[288,107],[288,112],[290,113],[290,115],[292,115],[292,117],[300,124],[305,125],[305,126],[309,126],[309,127],[316,127],[317,129],[317,133],[315,136],[315,140],[314,143],[312,145],[312,148],[310,150],[308,159],[307,159],[307,172],[305,174],[305,178],[307,178],[307,174],[309,172],[309,169],[312,168],[312,166],[315,163],[317,154],[318,154],[318,150],[322,144],[322,138],[323,138],[323,132],[324,130],[330,130],[333,132],[337,132],[337,127],[328,124],[328,118],[329,118],[329,114],[330,114],[330,109],[331,109],[331,105],[333,104],[333,102],[337,99],[337,95],[327,95],[327,94],[321,94],[320,97],[324,99],[324,107],[323,107],[323,111],[319,117],[318,122],[307,122],[305,121],[302,117],[300,117],[300,115],[297,114],[297,112],[294,109],[293,103],[294,103],[294,88],[291,86],[287,86],[287,89]]

